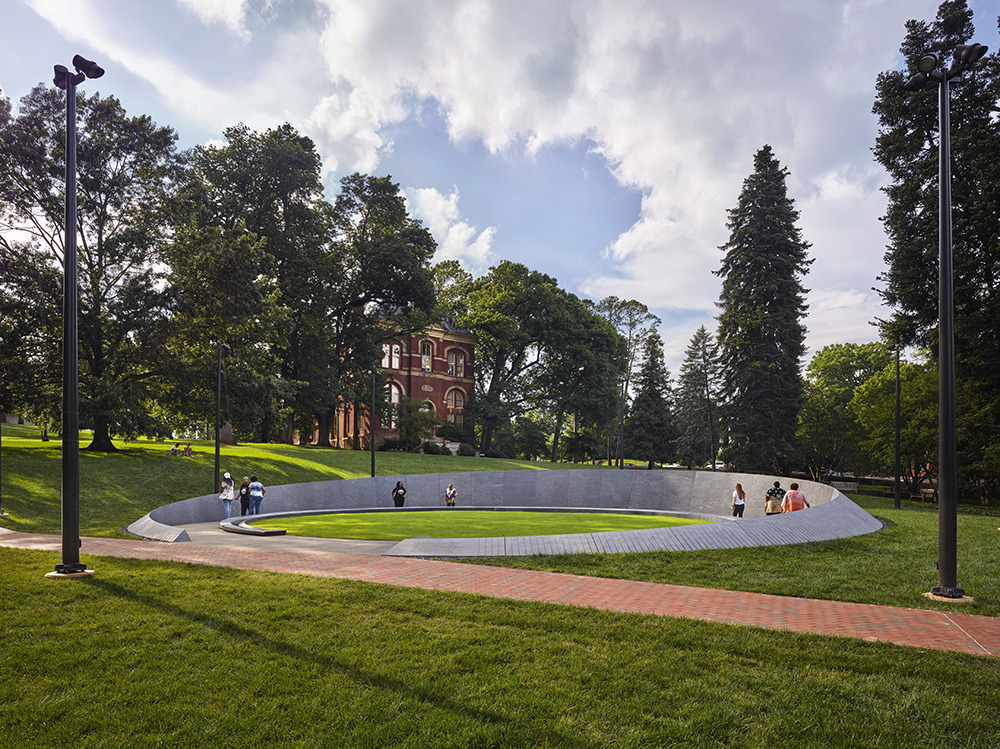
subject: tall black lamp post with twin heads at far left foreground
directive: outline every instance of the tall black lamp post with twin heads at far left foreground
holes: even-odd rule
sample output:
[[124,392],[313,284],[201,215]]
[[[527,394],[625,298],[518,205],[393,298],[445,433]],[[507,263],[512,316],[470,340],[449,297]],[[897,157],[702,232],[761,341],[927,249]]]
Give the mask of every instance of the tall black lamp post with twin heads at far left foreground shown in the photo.
[[77,333],[76,275],[76,87],[100,78],[104,69],[80,55],[75,73],[54,67],[52,82],[66,92],[66,240],[63,244],[63,427],[62,427],[62,564],[57,574],[86,572],[80,562],[80,361]]

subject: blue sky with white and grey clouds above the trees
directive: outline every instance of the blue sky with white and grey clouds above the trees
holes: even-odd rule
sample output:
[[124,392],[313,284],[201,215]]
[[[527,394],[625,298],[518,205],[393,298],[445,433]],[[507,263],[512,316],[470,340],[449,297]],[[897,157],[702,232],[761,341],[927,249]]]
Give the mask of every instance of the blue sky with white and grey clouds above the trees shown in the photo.
[[[877,338],[888,311],[878,74],[937,0],[5,0],[0,89],[16,103],[82,54],[189,148],[285,122],[327,195],[391,175],[474,275],[510,260],[662,320],[676,374],[714,332],[727,210],[770,145],[812,246],[809,354]],[[1000,0],[972,0],[1000,48]],[[805,362],[804,362],[805,363]]]

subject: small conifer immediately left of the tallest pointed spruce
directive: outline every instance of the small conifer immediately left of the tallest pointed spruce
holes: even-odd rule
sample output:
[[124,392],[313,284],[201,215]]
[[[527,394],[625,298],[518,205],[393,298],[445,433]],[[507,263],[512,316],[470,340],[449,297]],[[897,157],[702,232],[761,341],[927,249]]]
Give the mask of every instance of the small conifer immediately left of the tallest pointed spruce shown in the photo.
[[686,465],[715,465],[721,377],[718,348],[702,325],[688,344],[677,381],[677,457]]

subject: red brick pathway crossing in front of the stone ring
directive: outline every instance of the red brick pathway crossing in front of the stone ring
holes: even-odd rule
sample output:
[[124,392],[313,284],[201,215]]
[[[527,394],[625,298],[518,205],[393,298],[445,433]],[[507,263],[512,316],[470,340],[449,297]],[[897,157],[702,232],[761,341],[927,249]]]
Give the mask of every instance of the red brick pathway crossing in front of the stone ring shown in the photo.
[[[0,529],[0,546],[59,551],[57,536]],[[951,611],[741,593],[631,580],[360,554],[263,551],[190,543],[85,538],[88,556],[161,559],[217,567],[364,580],[608,611],[702,619],[1000,655],[1000,618]],[[94,565],[97,567],[98,565]],[[98,570],[99,574],[99,570]],[[956,604],[958,606],[960,604]]]

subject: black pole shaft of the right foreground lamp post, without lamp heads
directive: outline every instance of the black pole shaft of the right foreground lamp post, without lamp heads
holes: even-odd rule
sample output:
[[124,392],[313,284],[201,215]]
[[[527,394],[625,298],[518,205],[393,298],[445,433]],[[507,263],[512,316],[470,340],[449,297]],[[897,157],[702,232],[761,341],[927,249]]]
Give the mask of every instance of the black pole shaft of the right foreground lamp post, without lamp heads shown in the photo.
[[958,447],[955,426],[955,311],[951,241],[951,122],[948,73],[938,86],[940,146],[938,193],[940,268],[938,279],[938,585],[931,593],[961,598],[958,587]]

